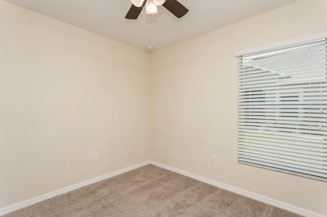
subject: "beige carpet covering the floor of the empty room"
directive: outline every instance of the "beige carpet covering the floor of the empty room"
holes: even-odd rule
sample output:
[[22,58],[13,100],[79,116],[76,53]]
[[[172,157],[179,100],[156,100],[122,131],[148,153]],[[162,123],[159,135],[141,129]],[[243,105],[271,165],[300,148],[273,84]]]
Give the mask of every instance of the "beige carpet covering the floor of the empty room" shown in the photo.
[[5,216],[300,215],[147,165]]

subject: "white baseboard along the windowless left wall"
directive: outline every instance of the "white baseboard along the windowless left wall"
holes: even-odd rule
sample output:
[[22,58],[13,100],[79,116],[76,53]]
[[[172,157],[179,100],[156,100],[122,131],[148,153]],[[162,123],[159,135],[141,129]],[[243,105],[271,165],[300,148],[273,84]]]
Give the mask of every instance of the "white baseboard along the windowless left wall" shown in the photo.
[[93,178],[93,179],[89,179],[89,180],[86,180],[86,181],[83,181],[83,182],[80,182],[80,183],[77,183],[77,184],[74,184],[74,185],[71,185],[71,186],[68,186],[68,187],[61,188],[61,189],[59,189],[57,191],[50,192],[50,193],[45,194],[45,195],[41,195],[41,196],[26,200],[26,201],[22,201],[20,203],[16,203],[16,204],[4,207],[4,208],[0,208],[0,216],[8,214],[8,213],[13,212],[13,211],[16,211],[18,209],[22,209],[22,208],[31,206],[33,204],[42,202],[44,200],[48,200],[50,198],[53,198],[53,197],[56,197],[56,196],[59,196],[59,195],[62,195],[62,194],[66,194],[68,192],[74,191],[74,190],[76,190],[78,188],[81,188],[81,187],[84,187],[86,185],[93,184],[93,183],[96,183],[98,181],[102,181],[102,180],[111,178],[113,176],[117,176],[117,175],[126,173],[128,171],[137,169],[139,167],[143,167],[143,166],[148,165],[150,163],[151,163],[151,161],[145,161],[145,162],[142,162],[141,164],[137,164],[137,165],[134,165],[134,166],[131,166],[131,167],[127,167],[127,168],[124,168],[122,170],[118,170],[118,171],[108,173],[106,175],[102,175],[102,176],[99,176],[99,177],[96,177],[96,178]]

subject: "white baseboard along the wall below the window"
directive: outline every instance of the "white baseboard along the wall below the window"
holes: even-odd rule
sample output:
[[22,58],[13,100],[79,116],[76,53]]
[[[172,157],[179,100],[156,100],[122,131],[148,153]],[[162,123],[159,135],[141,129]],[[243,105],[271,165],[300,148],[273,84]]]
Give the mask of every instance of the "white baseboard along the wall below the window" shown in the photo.
[[245,191],[243,189],[233,187],[233,186],[230,186],[230,185],[227,185],[227,184],[224,184],[224,183],[220,183],[218,181],[214,181],[214,180],[211,180],[211,179],[207,179],[207,178],[204,178],[204,177],[201,177],[201,176],[189,173],[189,172],[185,172],[185,171],[182,171],[182,170],[179,170],[179,169],[167,166],[167,165],[160,164],[160,163],[155,162],[155,161],[150,161],[150,164],[152,164],[154,166],[164,168],[164,169],[167,169],[167,170],[170,170],[170,171],[173,171],[173,172],[176,172],[176,173],[179,173],[179,174],[184,175],[184,176],[188,176],[190,178],[202,181],[202,182],[207,183],[207,184],[214,185],[216,187],[220,187],[220,188],[225,189],[227,191],[230,191],[230,192],[233,192],[233,193],[236,193],[236,194],[239,194],[239,195],[243,195],[245,197],[252,198],[254,200],[257,200],[257,201],[260,201],[260,202],[263,202],[263,203],[266,203],[266,204],[269,204],[269,205],[272,205],[272,206],[275,206],[275,207],[278,207],[278,208],[281,208],[281,209],[285,209],[285,210],[300,214],[302,216],[306,216],[306,217],[325,217],[325,215],[322,215],[322,214],[319,214],[319,213],[316,213],[316,212],[312,212],[312,211],[309,211],[309,210],[306,210],[306,209],[302,209],[302,208],[299,208],[297,206],[293,206],[293,205],[290,205],[290,204],[287,204],[287,203],[284,203],[284,202],[281,202],[281,201],[277,201],[277,200],[274,200],[274,199],[271,199],[271,198],[268,198],[268,197],[265,197],[265,196],[262,196],[262,195],[254,194],[254,193]]

